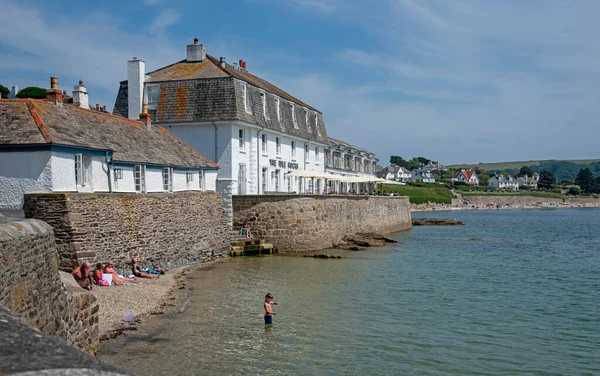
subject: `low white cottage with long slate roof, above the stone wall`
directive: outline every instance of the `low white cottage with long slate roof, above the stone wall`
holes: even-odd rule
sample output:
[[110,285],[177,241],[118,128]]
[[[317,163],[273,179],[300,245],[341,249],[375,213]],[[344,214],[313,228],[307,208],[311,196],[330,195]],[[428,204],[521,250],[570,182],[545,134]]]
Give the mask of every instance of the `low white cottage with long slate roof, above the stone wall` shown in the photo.
[[216,189],[218,165],[147,115],[85,107],[63,104],[56,78],[47,100],[0,100],[0,210],[20,210],[25,193]]

